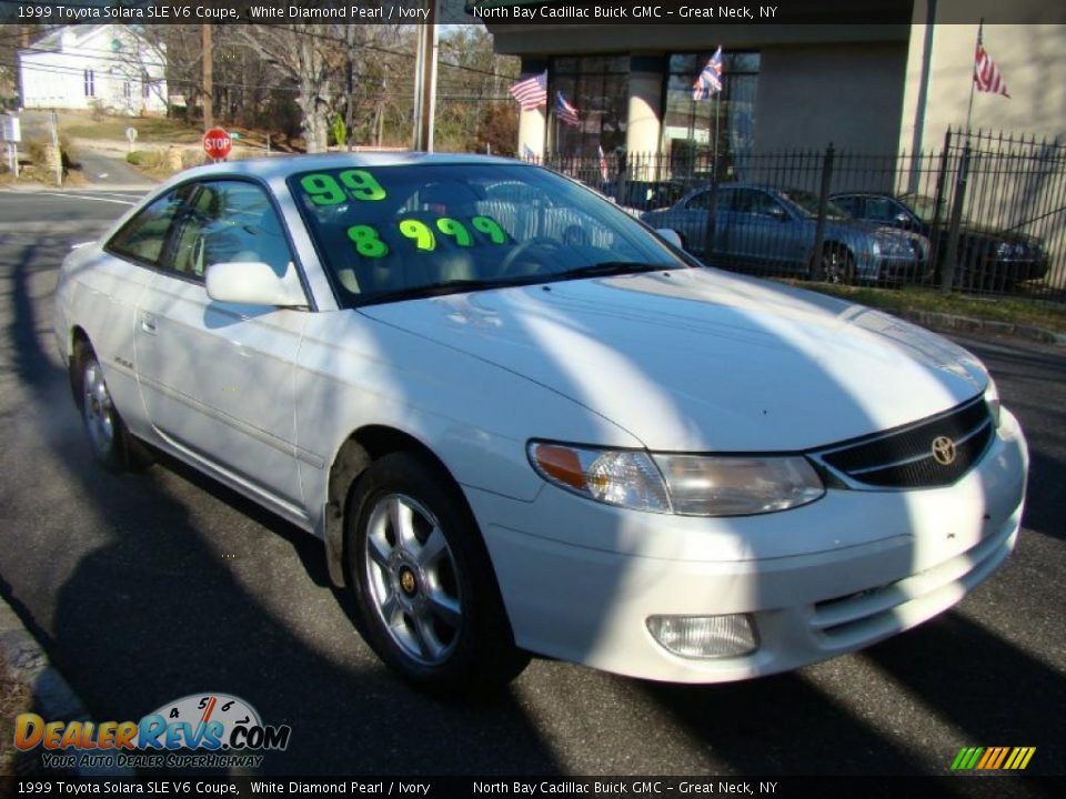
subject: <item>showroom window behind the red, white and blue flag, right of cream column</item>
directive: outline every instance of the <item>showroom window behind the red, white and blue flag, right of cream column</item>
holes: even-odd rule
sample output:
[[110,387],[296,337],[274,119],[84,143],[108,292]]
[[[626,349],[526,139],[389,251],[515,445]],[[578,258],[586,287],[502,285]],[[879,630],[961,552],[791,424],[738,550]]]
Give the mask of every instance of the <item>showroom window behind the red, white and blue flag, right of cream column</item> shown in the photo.
[[692,99],[692,84],[713,51],[674,53],[666,82],[663,149],[675,170],[717,164],[722,178],[743,179],[755,144],[757,52],[723,52],[722,91],[708,100]]

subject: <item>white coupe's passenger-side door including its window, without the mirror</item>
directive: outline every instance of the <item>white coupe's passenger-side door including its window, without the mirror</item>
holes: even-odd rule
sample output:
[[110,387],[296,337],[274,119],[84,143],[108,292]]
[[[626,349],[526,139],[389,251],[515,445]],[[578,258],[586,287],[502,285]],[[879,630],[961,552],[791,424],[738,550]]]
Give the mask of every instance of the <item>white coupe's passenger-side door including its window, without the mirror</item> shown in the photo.
[[211,300],[205,270],[234,261],[262,261],[278,274],[295,269],[263,186],[199,183],[138,307],[144,405],[155,432],[180,454],[300,517],[293,370],[306,314]]

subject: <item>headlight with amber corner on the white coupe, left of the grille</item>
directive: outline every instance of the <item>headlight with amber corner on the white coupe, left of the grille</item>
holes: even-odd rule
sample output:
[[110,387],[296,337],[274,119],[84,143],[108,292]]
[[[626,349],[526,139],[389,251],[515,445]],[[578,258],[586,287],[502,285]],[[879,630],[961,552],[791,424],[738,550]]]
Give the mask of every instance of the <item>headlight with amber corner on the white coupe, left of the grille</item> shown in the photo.
[[798,456],[650,455],[533,442],[530,463],[547,482],[622,507],[682,516],[747,516],[806,505],[825,486]]

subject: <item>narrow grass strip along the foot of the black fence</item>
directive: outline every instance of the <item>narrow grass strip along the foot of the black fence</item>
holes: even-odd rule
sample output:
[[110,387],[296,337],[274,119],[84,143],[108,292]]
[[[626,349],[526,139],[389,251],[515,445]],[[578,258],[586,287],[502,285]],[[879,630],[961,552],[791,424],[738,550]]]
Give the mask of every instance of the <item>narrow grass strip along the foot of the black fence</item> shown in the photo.
[[969,294],[942,294],[937,289],[904,286],[902,289],[872,289],[842,286],[828,283],[784,281],[800,289],[848,300],[849,302],[884,309],[888,312],[926,311],[957,316],[1008,322],[1018,325],[1045,327],[1066,333],[1066,304],[1030,297],[978,297]]

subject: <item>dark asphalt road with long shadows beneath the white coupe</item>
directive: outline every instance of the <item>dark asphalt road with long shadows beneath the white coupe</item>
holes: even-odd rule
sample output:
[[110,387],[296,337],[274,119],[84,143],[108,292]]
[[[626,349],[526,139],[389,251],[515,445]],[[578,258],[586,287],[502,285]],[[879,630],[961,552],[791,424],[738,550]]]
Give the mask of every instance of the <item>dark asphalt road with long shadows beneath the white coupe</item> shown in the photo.
[[263,763],[274,773],[943,775],[964,746],[1035,746],[1029,772],[1066,772],[1064,350],[964,342],[1022,418],[1033,474],[1015,556],[956,609],[744,684],[535,660],[503,695],[445,704],[373,657],[316,540],[184,467],[115,476],[93,462],[51,295],[70,243],[129,201],[0,193],[0,591],[95,718],[234,694],[291,725]]

